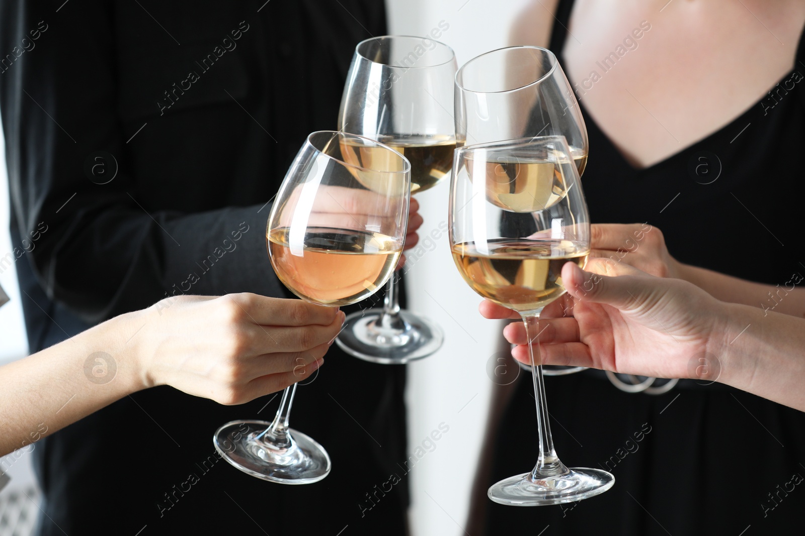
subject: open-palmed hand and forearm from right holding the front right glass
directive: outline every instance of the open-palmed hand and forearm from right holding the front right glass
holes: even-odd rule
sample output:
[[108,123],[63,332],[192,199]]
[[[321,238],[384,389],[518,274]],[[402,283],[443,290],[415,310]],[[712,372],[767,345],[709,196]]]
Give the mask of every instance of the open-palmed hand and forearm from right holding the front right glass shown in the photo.
[[[539,340],[544,363],[718,381],[805,411],[805,320],[718,301],[686,281],[611,260],[592,259],[587,268],[593,273],[570,263],[562,270],[576,302],[572,318],[540,320],[547,325]],[[511,315],[489,301],[481,313]],[[503,333],[526,343],[522,323]],[[525,346],[513,354],[528,362]]]

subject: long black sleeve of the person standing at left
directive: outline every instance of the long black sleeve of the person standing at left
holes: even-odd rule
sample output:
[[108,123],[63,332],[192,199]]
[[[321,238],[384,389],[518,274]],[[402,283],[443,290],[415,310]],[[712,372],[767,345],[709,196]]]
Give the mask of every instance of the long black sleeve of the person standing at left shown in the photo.
[[[285,296],[266,254],[267,199],[193,214],[144,208],[150,194],[125,158],[136,129],[124,129],[117,113],[113,9],[0,0],[12,214],[40,283],[91,322],[166,293]],[[98,149],[123,155],[102,185],[85,172]]]

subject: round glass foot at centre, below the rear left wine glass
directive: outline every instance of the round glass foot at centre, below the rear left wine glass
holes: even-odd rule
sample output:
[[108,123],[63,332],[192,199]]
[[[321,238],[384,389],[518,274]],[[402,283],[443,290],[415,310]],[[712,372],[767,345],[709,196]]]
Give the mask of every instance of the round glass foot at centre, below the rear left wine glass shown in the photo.
[[366,309],[346,317],[336,342],[341,350],[356,358],[382,365],[403,365],[439,350],[444,332],[436,322],[400,311],[399,327],[380,325],[382,309]]

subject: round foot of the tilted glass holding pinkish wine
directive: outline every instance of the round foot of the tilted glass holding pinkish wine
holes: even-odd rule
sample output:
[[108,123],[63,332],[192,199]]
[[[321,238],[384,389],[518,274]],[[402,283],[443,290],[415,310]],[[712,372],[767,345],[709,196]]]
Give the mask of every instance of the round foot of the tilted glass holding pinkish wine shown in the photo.
[[259,440],[271,423],[233,420],[218,428],[213,444],[221,457],[243,473],[278,484],[312,484],[330,473],[330,456],[310,436],[288,429],[291,445],[272,448]]

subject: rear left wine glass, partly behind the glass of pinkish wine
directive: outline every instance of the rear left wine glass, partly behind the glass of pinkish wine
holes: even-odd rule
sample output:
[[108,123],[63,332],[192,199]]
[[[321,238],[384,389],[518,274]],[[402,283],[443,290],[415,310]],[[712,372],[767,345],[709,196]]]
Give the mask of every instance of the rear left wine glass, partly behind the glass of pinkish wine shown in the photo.
[[[411,193],[427,190],[452,166],[455,76],[456,57],[443,43],[407,35],[361,41],[349,67],[338,128],[398,150],[411,162]],[[439,350],[444,333],[426,317],[400,309],[392,276],[382,309],[349,315],[336,341],[357,358],[400,364]]]

